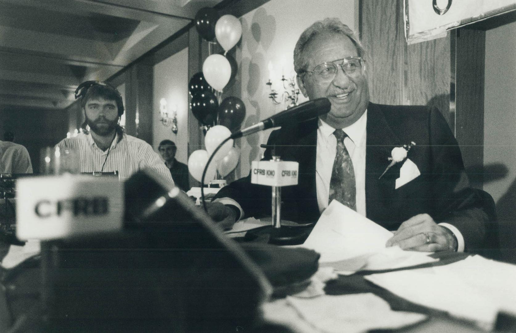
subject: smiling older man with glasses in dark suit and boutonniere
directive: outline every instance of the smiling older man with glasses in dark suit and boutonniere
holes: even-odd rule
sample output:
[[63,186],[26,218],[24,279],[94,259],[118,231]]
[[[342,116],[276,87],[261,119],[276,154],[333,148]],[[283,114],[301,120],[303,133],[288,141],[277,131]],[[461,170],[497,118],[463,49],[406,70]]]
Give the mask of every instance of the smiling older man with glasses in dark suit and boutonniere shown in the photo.
[[[271,133],[272,154],[299,162],[299,183],[282,189],[282,217],[316,221],[332,199],[394,231],[388,246],[440,251],[481,248],[494,211],[469,187],[457,141],[436,109],[369,102],[364,50],[336,19],[314,23],[294,50],[297,82],[330,112]],[[342,131],[341,131],[342,130]],[[217,194],[209,213],[223,226],[270,212],[270,187],[250,176]],[[223,205],[224,204],[224,205]]]

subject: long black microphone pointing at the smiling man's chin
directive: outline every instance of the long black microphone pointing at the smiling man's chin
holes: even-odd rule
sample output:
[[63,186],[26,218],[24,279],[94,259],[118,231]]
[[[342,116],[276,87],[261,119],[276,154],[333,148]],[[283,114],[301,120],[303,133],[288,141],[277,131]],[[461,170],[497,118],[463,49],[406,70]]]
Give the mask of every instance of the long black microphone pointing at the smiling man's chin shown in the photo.
[[282,126],[286,123],[296,123],[309,120],[320,115],[327,114],[330,111],[331,103],[326,97],[318,98],[308,102],[301,103],[286,109],[276,115],[260,121],[248,128],[231,134],[231,139],[237,139],[249,134],[267,130],[273,127]]

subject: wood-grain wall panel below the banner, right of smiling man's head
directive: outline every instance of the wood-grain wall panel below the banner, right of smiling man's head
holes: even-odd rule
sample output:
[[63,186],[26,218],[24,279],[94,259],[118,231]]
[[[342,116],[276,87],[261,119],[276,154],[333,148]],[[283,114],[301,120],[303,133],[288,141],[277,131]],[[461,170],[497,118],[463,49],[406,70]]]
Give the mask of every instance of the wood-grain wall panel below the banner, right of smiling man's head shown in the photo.
[[437,106],[449,114],[450,37],[407,45],[401,1],[362,2],[370,99],[380,104]]

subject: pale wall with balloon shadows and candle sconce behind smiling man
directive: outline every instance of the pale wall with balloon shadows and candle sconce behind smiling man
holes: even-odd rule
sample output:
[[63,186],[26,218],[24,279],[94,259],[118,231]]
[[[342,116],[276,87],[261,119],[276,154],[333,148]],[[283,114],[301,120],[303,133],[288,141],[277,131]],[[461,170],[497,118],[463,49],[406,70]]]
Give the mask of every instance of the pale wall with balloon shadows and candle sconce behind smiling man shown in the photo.
[[[285,108],[285,104],[272,104],[268,99],[270,90],[265,83],[271,75],[276,84],[280,82],[282,73],[286,77],[295,76],[293,52],[302,31],[326,17],[338,17],[352,29],[358,27],[356,3],[356,0],[271,0],[241,17],[242,40],[236,50],[236,59],[241,73],[240,99],[246,105],[243,126],[252,125]],[[304,97],[299,94],[298,102],[303,101]],[[241,148],[240,176],[247,176],[251,161],[261,157],[264,149],[260,144],[266,143],[269,133],[270,130],[250,135],[237,142]]]

